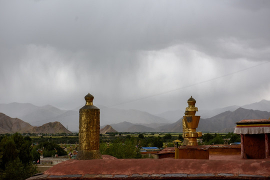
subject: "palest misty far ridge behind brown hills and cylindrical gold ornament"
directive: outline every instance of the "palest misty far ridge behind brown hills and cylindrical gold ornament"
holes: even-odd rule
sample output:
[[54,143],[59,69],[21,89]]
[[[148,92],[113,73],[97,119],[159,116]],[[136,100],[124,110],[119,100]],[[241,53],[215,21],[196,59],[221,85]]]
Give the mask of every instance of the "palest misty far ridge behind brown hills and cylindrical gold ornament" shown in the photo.
[[[70,131],[78,131],[79,109],[63,110],[51,105],[36,106],[31,103],[12,102],[0,104],[0,112],[17,117],[35,126],[59,121]],[[130,121],[143,124],[164,124],[169,121],[163,117],[135,109],[117,109],[100,105],[100,125]],[[160,124],[159,124],[160,123]]]

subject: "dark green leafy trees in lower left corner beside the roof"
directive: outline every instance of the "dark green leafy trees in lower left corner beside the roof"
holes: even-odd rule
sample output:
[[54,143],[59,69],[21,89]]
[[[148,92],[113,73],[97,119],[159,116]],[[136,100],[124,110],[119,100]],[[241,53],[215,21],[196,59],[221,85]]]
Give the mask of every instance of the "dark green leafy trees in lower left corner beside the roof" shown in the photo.
[[66,155],[55,142],[41,142],[34,145],[29,136],[19,133],[0,136],[0,179],[26,179],[37,173],[39,156]]

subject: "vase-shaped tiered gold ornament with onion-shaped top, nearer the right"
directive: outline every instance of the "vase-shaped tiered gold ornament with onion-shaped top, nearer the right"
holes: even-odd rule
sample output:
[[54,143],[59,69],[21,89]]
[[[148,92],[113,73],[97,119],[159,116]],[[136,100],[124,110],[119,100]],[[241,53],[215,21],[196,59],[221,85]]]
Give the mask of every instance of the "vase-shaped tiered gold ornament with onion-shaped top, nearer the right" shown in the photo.
[[198,145],[197,137],[201,137],[201,132],[196,132],[200,116],[195,115],[198,108],[195,107],[196,100],[191,96],[188,100],[188,107],[185,108],[183,124],[183,145]]

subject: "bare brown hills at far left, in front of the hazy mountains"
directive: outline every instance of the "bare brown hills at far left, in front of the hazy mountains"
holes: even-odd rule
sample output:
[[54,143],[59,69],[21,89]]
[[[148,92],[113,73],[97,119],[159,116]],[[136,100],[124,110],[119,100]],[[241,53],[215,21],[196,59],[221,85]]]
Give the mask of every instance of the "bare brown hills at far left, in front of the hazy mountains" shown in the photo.
[[19,118],[12,118],[0,112],[0,133],[71,133],[60,122],[48,122],[41,126],[32,126]]

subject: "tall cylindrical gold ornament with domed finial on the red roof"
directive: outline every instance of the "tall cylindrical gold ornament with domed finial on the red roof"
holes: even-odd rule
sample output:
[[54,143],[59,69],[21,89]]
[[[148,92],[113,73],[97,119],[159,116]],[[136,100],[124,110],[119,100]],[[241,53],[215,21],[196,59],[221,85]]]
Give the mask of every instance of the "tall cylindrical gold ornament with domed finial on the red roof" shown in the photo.
[[99,151],[99,108],[93,105],[93,96],[84,97],[85,105],[79,109],[79,150],[76,159],[101,159]]

